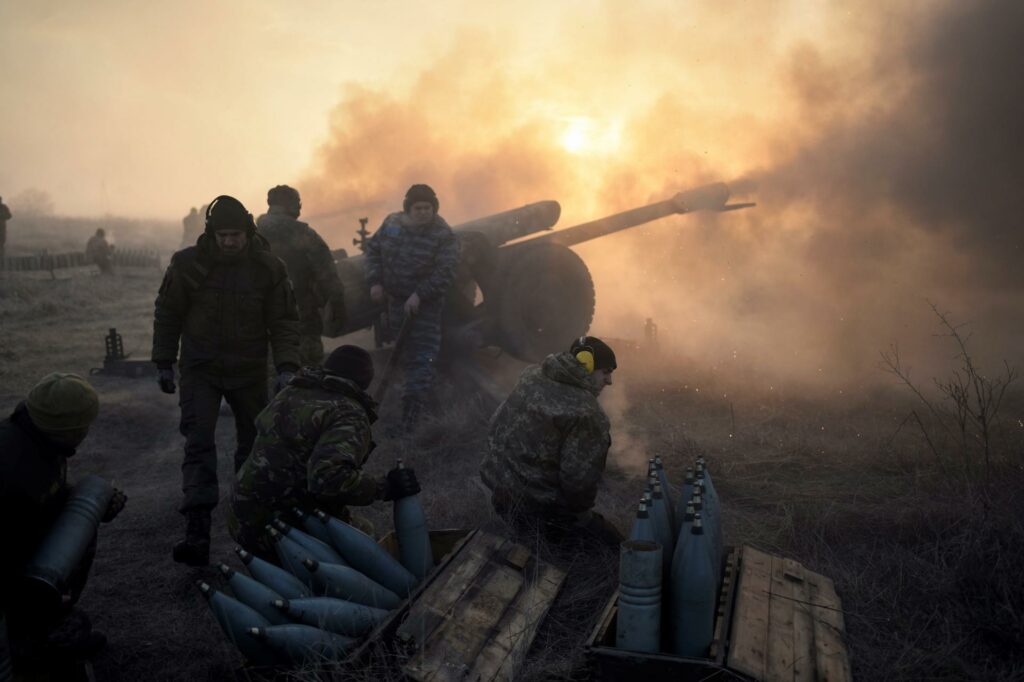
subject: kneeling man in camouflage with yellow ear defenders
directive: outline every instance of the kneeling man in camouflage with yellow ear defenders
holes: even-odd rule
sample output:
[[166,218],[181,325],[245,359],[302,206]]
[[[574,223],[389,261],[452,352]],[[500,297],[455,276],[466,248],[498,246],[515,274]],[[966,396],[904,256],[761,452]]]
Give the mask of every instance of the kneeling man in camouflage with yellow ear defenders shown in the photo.
[[526,368],[490,418],[480,478],[492,504],[515,528],[540,528],[558,542],[589,536],[616,545],[617,528],[593,511],[611,444],[597,396],[611,385],[615,353],[580,337],[568,352]]

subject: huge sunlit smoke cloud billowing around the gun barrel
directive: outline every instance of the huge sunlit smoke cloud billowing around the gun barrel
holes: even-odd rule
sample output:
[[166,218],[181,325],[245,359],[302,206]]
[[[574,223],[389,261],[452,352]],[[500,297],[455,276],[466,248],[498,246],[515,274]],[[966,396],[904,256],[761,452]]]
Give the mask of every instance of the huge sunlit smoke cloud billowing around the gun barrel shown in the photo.
[[1019,359],[1024,6],[597,7],[545,49],[466,30],[408,89],[348,88],[302,183],[313,224],[347,242],[424,181],[453,223],[557,199],[567,226],[722,179],[757,208],[578,247],[594,333],[653,317],[690,366],[865,383],[892,342],[947,363],[932,300]]

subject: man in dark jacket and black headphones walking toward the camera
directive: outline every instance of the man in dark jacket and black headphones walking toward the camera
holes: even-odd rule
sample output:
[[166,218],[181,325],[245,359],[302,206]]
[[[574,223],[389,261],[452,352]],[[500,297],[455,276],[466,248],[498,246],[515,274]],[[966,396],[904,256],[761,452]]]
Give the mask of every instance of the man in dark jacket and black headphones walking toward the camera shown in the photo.
[[181,341],[181,464],[187,519],[174,560],[206,565],[210,512],[217,505],[214,431],[221,398],[234,413],[234,470],[256,437],[253,422],[267,403],[267,342],[278,385],[299,368],[299,325],[285,264],[256,232],[239,200],[217,197],[206,212],[206,231],[196,246],[171,258],[157,296],[153,360],[160,388],[173,393],[174,363]]

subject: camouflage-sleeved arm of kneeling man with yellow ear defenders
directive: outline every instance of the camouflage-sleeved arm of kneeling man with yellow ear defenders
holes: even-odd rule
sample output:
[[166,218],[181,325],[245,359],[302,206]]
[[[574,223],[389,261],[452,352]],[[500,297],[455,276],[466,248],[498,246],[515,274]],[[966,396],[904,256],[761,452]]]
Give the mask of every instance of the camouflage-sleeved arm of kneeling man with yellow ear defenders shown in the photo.
[[562,440],[559,486],[570,511],[585,512],[594,506],[610,444],[607,430],[597,420],[582,417],[567,425]]

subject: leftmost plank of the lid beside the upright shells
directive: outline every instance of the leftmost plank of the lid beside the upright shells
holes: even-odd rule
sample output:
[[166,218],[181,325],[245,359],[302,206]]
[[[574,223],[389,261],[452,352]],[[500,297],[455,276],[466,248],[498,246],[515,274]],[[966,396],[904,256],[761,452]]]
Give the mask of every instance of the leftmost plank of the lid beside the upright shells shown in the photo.
[[756,679],[767,669],[771,556],[744,546],[740,555],[728,667]]

